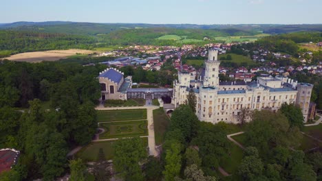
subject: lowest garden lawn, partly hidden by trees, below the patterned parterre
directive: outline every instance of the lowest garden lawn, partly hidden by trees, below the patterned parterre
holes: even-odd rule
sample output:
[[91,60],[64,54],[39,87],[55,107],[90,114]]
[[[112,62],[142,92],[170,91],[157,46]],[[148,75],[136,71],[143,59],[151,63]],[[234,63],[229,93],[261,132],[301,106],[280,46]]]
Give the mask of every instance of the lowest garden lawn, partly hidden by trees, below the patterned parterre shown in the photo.
[[[144,145],[148,145],[147,138],[141,138]],[[95,162],[98,160],[98,152],[103,149],[106,160],[113,159],[113,144],[115,141],[100,141],[92,142],[89,145],[83,147],[77,154],[76,157],[82,158],[85,162]]]

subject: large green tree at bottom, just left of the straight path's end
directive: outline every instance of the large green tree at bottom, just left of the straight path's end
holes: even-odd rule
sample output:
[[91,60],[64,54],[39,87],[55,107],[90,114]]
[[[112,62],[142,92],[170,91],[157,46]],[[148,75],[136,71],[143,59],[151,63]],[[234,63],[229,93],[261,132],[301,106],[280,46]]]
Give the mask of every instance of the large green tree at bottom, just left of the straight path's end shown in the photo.
[[147,158],[140,138],[123,138],[113,145],[113,166],[124,180],[144,180],[139,162]]

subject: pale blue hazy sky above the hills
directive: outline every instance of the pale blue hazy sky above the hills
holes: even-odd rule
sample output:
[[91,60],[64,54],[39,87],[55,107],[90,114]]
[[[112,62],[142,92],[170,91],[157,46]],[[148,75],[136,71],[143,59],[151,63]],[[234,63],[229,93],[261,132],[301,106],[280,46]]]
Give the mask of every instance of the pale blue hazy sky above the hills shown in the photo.
[[0,0],[0,23],[322,23],[321,0]]

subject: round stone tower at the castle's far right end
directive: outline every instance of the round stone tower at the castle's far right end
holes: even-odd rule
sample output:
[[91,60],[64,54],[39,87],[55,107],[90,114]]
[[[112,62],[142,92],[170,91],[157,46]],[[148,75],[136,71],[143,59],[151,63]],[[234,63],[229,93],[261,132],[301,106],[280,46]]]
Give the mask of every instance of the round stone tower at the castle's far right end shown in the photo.
[[312,94],[312,84],[299,83],[297,84],[297,99],[296,104],[298,104],[302,110],[304,122],[308,121],[308,113],[310,109],[310,99]]

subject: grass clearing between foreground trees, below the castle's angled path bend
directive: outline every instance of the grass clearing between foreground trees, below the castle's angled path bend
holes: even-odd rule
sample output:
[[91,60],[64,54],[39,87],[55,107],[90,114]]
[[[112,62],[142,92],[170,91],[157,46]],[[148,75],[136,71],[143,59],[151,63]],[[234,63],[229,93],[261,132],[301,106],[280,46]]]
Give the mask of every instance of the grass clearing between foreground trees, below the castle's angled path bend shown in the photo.
[[234,143],[230,142],[230,156],[223,158],[220,162],[220,167],[222,167],[229,174],[235,173],[239,167],[241,159],[244,156],[244,151]]

